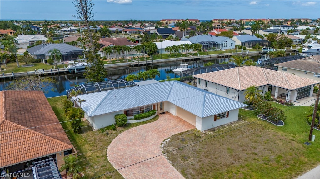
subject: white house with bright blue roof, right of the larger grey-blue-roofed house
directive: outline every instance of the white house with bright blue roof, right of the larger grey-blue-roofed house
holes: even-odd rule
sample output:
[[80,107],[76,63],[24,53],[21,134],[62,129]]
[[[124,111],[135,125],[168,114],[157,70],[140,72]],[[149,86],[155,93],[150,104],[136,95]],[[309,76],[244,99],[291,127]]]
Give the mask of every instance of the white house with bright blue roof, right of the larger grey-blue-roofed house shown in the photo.
[[232,38],[236,42],[236,45],[244,47],[253,47],[256,44],[260,46],[269,46],[270,42],[268,40],[259,39],[255,35],[238,35]]

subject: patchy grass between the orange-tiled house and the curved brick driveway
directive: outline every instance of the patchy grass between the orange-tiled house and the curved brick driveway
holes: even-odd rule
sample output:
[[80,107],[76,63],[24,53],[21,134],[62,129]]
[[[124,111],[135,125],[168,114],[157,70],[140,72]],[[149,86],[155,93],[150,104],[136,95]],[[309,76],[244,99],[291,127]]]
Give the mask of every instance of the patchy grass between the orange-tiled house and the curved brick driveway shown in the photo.
[[[63,106],[61,104],[61,99],[63,98],[66,98],[66,96],[48,98],[48,101],[60,122],[66,121]],[[84,127],[81,134],[75,134],[72,131],[67,131],[71,129],[69,122],[61,123],[61,125],[63,129],[67,131],[66,133],[71,143],[78,151],[79,164],[85,168],[85,178],[89,179],[115,170],[108,161],[107,148],[116,136],[132,127],[147,124],[156,121],[157,119],[158,116],[145,122],[126,124],[124,127],[116,127],[116,130],[106,130],[106,132],[108,131],[109,133],[108,135],[106,132],[92,131],[91,126]],[[88,125],[87,121],[86,125]],[[100,178],[123,177],[116,171]]]

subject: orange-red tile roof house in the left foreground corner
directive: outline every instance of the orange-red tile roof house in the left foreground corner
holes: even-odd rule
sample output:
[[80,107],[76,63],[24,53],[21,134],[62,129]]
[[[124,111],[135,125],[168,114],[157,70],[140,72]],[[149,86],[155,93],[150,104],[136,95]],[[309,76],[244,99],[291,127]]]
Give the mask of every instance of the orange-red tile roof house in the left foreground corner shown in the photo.
[[[1,170],[7,168],[10,173],[22,170],[31,176],[34,170],[40,176],[37,163],[46,160],[51,164],[50,170],[56,172],[52,178],[59,176],[56,166],[60,168],[63,157],[76,154],[76,150],[44,93],[0,91],[0,98]],[[65,171],[61,172],[64,174]]]

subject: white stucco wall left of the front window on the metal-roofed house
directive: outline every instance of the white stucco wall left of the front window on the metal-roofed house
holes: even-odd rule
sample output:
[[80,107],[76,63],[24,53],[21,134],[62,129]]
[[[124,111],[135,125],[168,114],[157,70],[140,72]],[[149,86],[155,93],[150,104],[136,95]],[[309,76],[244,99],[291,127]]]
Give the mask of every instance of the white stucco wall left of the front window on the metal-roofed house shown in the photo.
[[108,125],[115,124],[115,115],[123,114],[123,111],[116,111],[108,114],[103,114],[99,116],[94,116],[88,118],[88,121],[93,126],[94,129],[100,129]]

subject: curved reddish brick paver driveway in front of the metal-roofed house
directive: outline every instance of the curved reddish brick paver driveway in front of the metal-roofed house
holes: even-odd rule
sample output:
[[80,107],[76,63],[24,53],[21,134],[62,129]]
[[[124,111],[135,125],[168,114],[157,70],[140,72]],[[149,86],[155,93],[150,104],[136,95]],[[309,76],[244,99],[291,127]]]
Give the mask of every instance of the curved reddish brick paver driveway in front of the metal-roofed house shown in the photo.
[[[134,127],[118,135],[108,147],[108,160],[119,169],[157,156],[162,154],[160,144],[163,140],[192,128],[195,126],[168,112],[159,114],[157,121]],[[118,171],[126,179],[183,178],[163,155]]]

